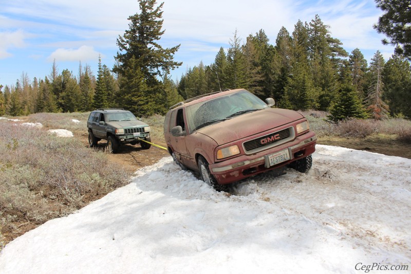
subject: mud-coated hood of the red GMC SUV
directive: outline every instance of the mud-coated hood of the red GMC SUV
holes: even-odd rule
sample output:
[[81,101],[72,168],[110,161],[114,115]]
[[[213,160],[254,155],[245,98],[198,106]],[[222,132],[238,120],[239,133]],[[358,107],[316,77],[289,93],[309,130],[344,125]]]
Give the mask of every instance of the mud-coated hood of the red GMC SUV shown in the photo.
[[289,109],[266,108],[211,124],[197,130],[197,133],[207,135],[214,139],[218,145],[222,145],[302,118],[304,118],[303,115]]

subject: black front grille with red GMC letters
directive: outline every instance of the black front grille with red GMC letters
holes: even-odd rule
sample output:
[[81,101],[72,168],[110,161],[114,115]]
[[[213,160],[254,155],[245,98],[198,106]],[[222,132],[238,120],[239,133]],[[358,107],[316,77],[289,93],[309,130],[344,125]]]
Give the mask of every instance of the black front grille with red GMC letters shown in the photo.
[[294,139],[294,128],[288,127],[287,129],[244,142],[242,145],[244,147],[244,151],[250,154],[275,147],[276,145],[288,142],[292,139]]

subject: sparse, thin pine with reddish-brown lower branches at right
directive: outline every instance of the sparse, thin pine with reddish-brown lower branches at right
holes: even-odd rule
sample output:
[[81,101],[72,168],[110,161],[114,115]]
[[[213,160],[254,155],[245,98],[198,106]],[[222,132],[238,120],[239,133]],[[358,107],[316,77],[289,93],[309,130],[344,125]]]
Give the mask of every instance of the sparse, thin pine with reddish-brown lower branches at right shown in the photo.
[[372,77],[371,85],[368,88],[366,98],[367,110],[372,118],[376,120],[384,119],[388,116],[388,105],[382,100],[384,82],[382,71],[384,68],[384,58],[379,50],[374,54],[370,63],[370,73]]

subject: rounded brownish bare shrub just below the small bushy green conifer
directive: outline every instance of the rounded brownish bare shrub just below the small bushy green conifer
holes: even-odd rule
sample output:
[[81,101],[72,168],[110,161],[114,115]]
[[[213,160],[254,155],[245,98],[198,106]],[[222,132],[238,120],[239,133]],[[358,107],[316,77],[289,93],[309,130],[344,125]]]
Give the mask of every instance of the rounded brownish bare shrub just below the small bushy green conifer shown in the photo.
[[364,138],[379,131],[379,123],[375,120],[348,119],[340,121],[336,133],[343,137]]

